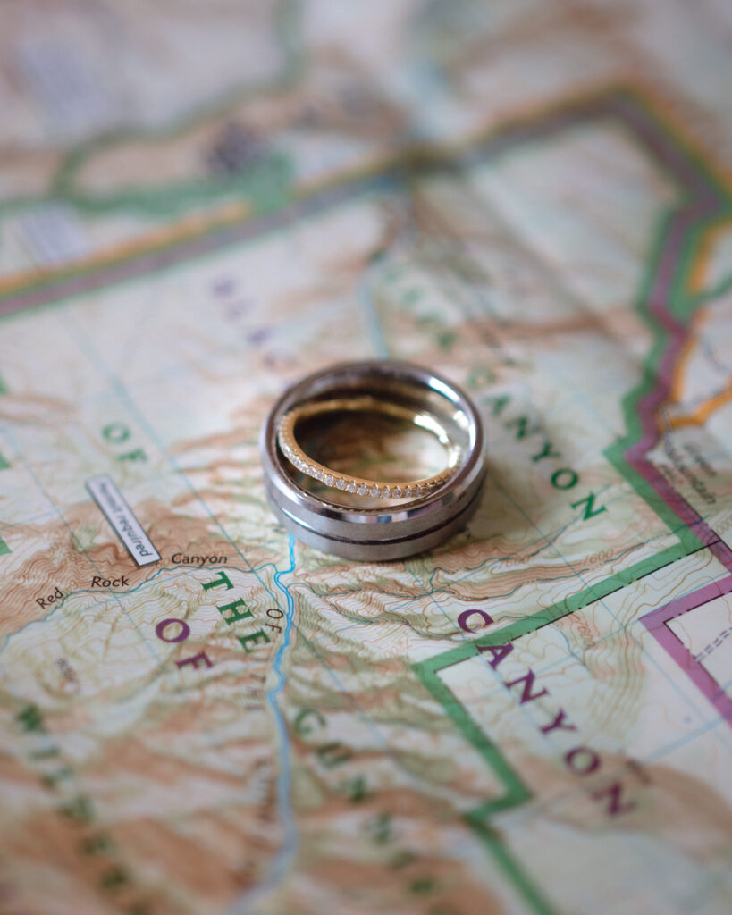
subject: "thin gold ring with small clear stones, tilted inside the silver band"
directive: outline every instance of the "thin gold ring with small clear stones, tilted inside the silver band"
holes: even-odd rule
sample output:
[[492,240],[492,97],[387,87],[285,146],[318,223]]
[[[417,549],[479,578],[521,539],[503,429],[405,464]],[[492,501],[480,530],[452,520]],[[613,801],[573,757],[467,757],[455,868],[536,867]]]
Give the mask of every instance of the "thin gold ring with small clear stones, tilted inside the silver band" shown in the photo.
[[[377,479],[363,479],[350,477],[338,473],[318,461],[310,458],[297,444],[295,428],[297,423],[310,416],[323,413],[337,412],[376,412],[394,416],[398,419],[407,419],[413,425],[433,433],[437,440],[447,447],[447,468],[432,477],[414,480],[400,480],[398,482],[385,482]],[[277,426],[277,444],[285,457],[298,470],[307,477],[318,479],[330,489],[345,490],[359,496],[371,496],[381,499],[421,499],[439,489],[450,479],[458,469],[461,449],[454,445],[445,427],[432,414],[424,411],[414,411],[401,404],[392,404],[379,400],[376,397],[337,397],[333,400],[310,401],[300,404],[285,413]]]

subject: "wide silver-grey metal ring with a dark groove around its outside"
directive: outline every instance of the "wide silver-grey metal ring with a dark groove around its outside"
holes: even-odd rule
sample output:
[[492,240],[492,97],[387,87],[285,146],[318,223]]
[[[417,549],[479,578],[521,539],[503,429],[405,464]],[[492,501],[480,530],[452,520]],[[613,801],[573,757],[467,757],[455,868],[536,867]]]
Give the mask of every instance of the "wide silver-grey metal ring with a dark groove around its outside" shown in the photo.
[[[377,398],[436,417],[458,450],[457,467],[426,495],[376,507],[341,504],[307,490],[307,475],[285,456],[278,430],[296,408],[334,398]],[[274,404],[260,450],[267,499],[285,530],[324,553],[361,561],[401,559],[441,544],[476,511],[485,479],[482,424],[468,394],[409,362],[344,362],[308,375]]]

